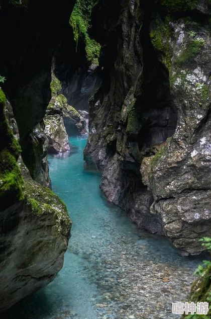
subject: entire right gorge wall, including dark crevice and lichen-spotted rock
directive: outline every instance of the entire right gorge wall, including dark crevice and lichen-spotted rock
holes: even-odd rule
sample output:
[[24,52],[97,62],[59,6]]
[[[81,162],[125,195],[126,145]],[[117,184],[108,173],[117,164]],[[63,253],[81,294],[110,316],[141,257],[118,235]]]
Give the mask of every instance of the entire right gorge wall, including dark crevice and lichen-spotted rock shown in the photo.
[[90,101],[86,166],[139,227],[199,254],[198,238],[211,235],[210,4],[117,4],[92,13],[103,82]]

